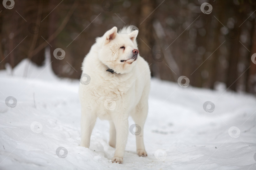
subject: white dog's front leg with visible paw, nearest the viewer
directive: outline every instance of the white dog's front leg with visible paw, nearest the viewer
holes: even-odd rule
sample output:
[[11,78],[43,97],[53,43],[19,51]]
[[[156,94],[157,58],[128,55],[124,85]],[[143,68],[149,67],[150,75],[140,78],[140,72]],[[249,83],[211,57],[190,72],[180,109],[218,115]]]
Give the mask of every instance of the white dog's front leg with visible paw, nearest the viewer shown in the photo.
[[123,163],[125,145],[128,137],[128,116],[114,115],[112,119],[116,128],[116,150],[112,162]]

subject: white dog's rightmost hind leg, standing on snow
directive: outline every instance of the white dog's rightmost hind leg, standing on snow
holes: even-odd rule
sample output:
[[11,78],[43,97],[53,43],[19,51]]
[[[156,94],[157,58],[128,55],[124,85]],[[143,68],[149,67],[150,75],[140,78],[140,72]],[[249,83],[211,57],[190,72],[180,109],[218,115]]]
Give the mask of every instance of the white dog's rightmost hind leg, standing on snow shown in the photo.
[[[143,98],[144,97],[144,98]],[[143,133],[144,133],[144,124],[148,115],[148,97],[142,96],[142,99],[137,104],[135,112],[131,113],[131,117],[134,120],[135,124],[139,125],[139,130],[136,135],[136,147],[138,156],[147,156],[147,152],[144,146]]]

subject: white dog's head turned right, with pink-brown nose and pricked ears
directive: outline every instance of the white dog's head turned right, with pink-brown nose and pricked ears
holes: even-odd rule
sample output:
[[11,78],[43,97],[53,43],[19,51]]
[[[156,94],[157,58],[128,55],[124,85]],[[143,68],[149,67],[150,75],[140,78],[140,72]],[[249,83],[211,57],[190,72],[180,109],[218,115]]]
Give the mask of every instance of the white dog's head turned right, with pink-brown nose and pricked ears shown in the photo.
[[[108,30],[103,37],[99,49],[99,59],[116,73],[124,74],[136,65],[139,50],[136,37],[138,31],[118,33],[117,27]],[[98,41],[98,40],[97,40]]]

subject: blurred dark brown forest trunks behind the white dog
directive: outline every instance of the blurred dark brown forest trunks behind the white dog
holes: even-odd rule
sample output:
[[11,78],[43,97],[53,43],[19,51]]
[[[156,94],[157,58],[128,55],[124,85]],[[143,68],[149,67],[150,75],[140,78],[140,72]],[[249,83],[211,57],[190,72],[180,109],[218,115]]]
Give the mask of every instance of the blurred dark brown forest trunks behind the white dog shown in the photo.
[[[212,6],[209,14],[200,9],[204,2]],[[4,0],[0,69],[25,58],[43,65],[50,48],[56,75],[78,79],[95,37],[135,25],[152,76],[173,82],[186,76],[192,86],[212,89],[223,82],[230,90],[256,93],[255,10],[255,0]],[[54,58],[56,48],[65,51],[64,59]]]

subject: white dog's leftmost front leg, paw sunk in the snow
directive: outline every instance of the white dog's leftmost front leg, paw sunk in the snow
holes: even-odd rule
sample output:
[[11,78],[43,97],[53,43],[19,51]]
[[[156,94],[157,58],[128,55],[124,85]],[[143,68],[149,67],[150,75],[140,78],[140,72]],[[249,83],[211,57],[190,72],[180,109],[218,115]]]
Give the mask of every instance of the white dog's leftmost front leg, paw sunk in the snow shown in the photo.
[[93,127],[95,125],[97,116],[92,113],[92,110],[85,109],[82,107],[82,115],[81,115],[81,146],[89,148],[90,139]]

